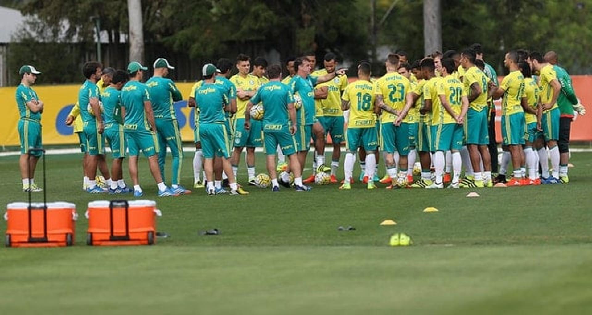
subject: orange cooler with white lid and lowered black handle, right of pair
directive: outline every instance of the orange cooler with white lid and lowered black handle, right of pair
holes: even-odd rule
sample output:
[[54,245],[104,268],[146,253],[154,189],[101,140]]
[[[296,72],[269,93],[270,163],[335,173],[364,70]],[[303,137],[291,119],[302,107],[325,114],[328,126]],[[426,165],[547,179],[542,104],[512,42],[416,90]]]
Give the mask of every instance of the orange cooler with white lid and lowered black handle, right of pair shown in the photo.
[[88,203],[87,245],[153,245],[156,242],[156,202],[99,200]]

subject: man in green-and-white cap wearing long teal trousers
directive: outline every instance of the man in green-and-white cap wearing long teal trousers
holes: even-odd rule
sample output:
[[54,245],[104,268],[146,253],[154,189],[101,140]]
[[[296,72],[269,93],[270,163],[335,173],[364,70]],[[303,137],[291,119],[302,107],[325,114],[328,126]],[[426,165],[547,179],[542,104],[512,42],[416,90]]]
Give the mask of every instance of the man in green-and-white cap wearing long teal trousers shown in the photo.
[[150,93],[150,102],[154,112],[156,122],[156,135],[158,140],[158,165],[160,175],[165,176],[166,147],[170,148],[172,155],[172,180],[171,187],[176,194],[188,194],[191,190],[181,186],[181,168],[183,165],[183,142],[181,141],[181,130],[175,115],[173,102],[183,99],[181,91],[175,85],[173,80],[168,77],[169,70],[175,67],[169,64],[164,58],[154,61],[153,77],[146,81],[148,92]]

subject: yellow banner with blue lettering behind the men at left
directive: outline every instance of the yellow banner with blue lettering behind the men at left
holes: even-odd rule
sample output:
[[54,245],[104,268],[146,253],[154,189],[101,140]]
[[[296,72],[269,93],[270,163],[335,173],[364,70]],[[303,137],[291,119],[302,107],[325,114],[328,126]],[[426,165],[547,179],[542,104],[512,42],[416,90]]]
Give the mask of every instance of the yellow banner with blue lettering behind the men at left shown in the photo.
[[[185,100],[175,102],[175,114],[181,128],[183,141],[193,141],[193,109],[187,107],[186,99],[194,83],[176,83]],[[80,85],[33,86],[45,107],[41,115],[43,144],[77,144],[78,136],[72,126],[64,123],[76,100]],[[6,119],[0,124],[0,145],[20,145],[18,138],[18,113],[15,91],[17,87],[0,87],[0,99],[4,100]]]

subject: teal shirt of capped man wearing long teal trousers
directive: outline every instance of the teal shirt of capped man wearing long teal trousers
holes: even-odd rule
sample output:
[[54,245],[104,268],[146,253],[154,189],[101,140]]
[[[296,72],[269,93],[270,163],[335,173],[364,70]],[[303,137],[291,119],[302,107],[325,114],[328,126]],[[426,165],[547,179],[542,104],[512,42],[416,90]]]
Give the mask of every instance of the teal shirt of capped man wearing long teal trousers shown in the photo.
[[154,118],[176,119],[174,102],[183,99],[177,86],[167,77],[151,77],[146,81]]

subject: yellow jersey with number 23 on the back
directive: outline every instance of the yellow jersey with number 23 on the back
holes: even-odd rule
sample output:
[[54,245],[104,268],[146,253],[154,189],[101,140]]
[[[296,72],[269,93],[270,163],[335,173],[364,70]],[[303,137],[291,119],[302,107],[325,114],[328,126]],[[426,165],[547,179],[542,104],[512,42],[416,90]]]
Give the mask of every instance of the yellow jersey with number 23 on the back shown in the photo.
[[[390,72],[376,80],[374,83],[374,94],[382,95],[385,105],[402,111],[405,107],[405,96],[411,92],[409,79],[397,72]],[[397,116],[389,112],[382,112],[380,115],[381,124],[394,122]]]

